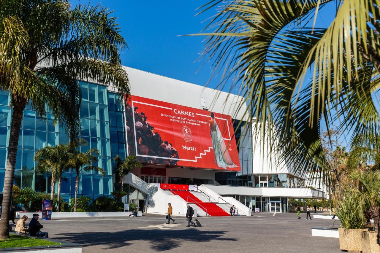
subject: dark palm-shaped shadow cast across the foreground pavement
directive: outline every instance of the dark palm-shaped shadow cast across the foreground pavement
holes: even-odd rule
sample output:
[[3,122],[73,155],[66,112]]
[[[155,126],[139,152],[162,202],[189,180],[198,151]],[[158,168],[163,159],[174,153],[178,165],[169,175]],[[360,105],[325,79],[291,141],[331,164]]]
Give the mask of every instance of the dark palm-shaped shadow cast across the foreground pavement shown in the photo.
[[104,245],[104,249],[120,248],[131,245],[133,240],[150,242],[155,251],[172,250],[180,247],[181,240],[190,242],[210,242],[212,240],[237,241],[234,238],[222,237],[226,231],[202,231],[198,229],[162,230],[162,229],[129,229],[119,232],[85,232],[57,234],[57,238],[81,244],[83,247]]

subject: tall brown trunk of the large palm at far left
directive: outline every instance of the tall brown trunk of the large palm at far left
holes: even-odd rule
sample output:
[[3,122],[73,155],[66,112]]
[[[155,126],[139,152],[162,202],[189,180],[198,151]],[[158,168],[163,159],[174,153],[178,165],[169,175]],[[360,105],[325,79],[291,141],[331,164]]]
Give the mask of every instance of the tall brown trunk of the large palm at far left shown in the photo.
[[11,210],[12,188],[14,169],[16,167],[17,145],[19,143],[19,133],[21,127],[22,114],[25,103],[14,103],[11,134],[9,135],[8,155],[6,157],[2,219],[0,221],[0,239],[9,238],[9,212]]

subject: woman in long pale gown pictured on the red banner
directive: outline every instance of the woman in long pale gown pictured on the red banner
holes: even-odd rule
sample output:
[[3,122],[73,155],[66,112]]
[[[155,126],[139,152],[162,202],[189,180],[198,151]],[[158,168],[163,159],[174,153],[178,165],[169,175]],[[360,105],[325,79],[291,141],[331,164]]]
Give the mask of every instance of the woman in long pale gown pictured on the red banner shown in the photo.
[[215,121],[215,115],[211,112],[211,120],[209,120],[210,124],[210,137],[212,141],[212,149],[214,150],[215,163],[220,168],[236,168],[236,164],[231,160],[230,154],[228,153],[226,144],[224,143],[224,139],[222,133],[218,128],[218,125]]

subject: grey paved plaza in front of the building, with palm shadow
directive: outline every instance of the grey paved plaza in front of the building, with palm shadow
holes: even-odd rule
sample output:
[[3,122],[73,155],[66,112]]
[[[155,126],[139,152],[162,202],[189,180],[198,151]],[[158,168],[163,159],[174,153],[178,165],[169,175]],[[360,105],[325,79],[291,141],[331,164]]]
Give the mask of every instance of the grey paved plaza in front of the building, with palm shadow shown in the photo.
[[[95,252],[341,252],[339,239],[311,236],[312,227],[331,227],[328,219],[297,220],[296,213],[252,217],[200,217],[201,228],[186,228],[184,217],[146,214],[131,218],[67,218],[41,221],[54,239]],[[339,221],[335,222],[335,227]]]

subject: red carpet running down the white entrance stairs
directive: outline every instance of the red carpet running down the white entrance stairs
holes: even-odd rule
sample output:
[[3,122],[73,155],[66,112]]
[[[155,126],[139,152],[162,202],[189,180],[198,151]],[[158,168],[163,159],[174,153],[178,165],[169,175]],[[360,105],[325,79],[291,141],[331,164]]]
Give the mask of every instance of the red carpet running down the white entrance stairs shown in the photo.
[[227,213],[222,208],[218,207],[215,203],[203,202],[196,196],[194,196],[190,191],[171,190],[171,192],[180,196],[186,202],[196,204],[199,208],[207,212],[207,214],[210,216],[230,216],[229,213]]

